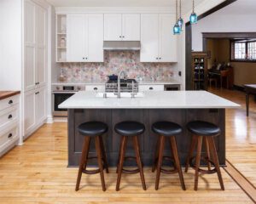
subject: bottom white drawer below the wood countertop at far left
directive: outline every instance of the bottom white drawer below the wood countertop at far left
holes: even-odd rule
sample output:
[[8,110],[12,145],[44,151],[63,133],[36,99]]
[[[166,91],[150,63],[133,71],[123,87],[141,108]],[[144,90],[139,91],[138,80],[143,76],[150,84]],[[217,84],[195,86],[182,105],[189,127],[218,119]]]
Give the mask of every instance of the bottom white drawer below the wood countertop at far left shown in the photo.
[[0,150],[6,148],[9,143],[18,137],[19,127],[18,123],[9,127],[0,134]]

